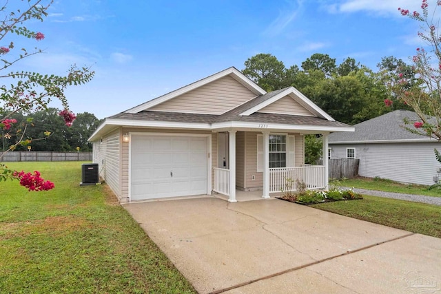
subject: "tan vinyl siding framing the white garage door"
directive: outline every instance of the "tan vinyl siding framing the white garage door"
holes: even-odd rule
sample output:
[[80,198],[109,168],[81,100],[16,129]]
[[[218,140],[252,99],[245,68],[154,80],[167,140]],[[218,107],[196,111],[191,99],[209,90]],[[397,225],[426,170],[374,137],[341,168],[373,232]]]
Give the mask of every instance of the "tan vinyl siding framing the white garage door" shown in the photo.
[[[179,129],[143,129],[143,128],[123,128],[122,134],[129,133],[169,133],[169,134],[212,134],[212,132],[206,131],[189,131],[189,130],[179,130]],[[216,136],[212,136],[213,140],[216,140]],[[216,153],[216,144],[212,147],[212,153]],[[212,156],[213,154],[210,154]],[[217,156],[216,156],[217,158]],[[216,158],[212,157],[213,165],[216,164]],[[121,198],[129,197],[129,143],[123,143],[123,148],[121,152],[121,160],[123,166],[121,169]],[[214,165],[215,166],[215,165]],[[212,173],[213,177],[213,173]]]

